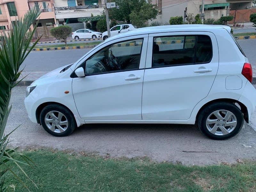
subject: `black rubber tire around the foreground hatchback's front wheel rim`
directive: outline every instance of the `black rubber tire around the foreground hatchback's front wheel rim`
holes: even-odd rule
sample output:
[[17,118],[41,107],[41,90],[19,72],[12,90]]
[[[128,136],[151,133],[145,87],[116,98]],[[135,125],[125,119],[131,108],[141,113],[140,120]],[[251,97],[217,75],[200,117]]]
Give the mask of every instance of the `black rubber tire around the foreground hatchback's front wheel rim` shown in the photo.
[[[45,119],[45,116],[47,115],[47,113],[51,112],[51,111],[57,111],[57,112],[60,112],[64,115],[64,118],[67,119],[68,121],[68,126],[67,126],[67,129],[64,131],[64,132],[53,132],[51,131],[44,119]],[[59,120],[59,119],[58,119]],[[61,120],[60,120],[61,121]],[[70,135],[74,130],[75,128],[77,127],[76,125],[76,121],[75,121],[75,117],[73,116],[72,112],[64,107],[64,106],[61,106],[61,105],[58,105],[58,104],[50,104],[50,105],[47,105],[46,107],[43,108],[43,110],[41,111],[40,113],[40,122],[42,124],[42,126],[44,127],[44,130],[47,131],[48,133],[50,133],[51,135],[53,136],[56,136],[56,137],[65,137],[65,136],[68,136]],[[57,128],[58,125],[56,125],[56,128]],[[58,131],[58,129],[55,129]]]

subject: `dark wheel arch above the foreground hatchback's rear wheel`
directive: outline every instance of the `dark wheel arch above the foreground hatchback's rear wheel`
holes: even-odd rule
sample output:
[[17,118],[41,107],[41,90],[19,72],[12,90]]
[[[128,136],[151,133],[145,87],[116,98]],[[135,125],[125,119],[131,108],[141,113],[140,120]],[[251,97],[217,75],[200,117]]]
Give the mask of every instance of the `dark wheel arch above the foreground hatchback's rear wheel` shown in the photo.
[[240,107],[240,110],[242,111],[243,115],[244,115],[244,120],[249,123],[249,116],[248,116],[248,110],[247,110],[247,107],[241,103],[240,101],[238,100],[235,100],[235,99],[215,99],[215,100],[211,100],[207,103],[205,103],[200,109],[199,111],[197,112],[197,115],[196,115],[196,121],[198,119],[198,116],[199,114],[201,113],[201,111],[207,107],[208,105],[212,104],[212,103],[217,103],[217,102],[228,102],[228,103],[233,103],[233,104],[237,104],[239,107]]

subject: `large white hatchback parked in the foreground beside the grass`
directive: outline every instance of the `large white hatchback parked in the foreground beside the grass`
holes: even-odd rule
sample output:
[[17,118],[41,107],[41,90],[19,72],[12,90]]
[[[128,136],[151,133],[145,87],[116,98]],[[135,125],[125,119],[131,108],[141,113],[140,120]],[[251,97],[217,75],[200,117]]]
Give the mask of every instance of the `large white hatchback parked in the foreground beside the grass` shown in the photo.
[[55,136],[82,124],[195,124],[236,135],[256,106],[252,67],[228,26],[140,28],[110,37],[27,88],[30,120]]

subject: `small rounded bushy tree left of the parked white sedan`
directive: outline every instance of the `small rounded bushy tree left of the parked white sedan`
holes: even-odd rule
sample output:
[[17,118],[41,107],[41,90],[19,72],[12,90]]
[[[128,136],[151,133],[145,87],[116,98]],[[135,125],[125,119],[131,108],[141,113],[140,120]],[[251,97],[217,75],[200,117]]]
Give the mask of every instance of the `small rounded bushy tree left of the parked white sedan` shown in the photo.
[[51,34],[59,41],[64,41],[67,46],[67,38],[72,33],[72,28],[67,25],[62,25],[51,29]]

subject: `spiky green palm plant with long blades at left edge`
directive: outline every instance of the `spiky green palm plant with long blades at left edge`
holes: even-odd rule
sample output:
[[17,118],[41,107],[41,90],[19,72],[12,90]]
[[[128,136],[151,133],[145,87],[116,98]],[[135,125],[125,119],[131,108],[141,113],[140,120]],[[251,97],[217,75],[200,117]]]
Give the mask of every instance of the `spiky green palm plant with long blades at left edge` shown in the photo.
[[6,172],[11,172],[27,188],[20,177],[12,171],[12,167],[18,166],[20,171],[28,177],[20,164],[33,164],[32,160],[18,153],[15,149],[7,148],[8,137],[11,133],[5,134],[5,126],[12,108],[12,106],[9,107],[11,91],[21,73],[19,71],[20,65],[39,41],[38,39],[35,44],[29,47],[36,27],[27,36],[29,28],[39,15],[40,12],[35,8],[28,11],[23,18],[16,20],[15,25],[0,42],[0,192],[6,190],[6,186],[4,186],[4,174]]

